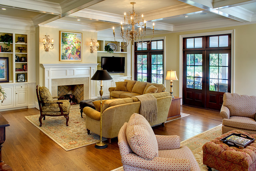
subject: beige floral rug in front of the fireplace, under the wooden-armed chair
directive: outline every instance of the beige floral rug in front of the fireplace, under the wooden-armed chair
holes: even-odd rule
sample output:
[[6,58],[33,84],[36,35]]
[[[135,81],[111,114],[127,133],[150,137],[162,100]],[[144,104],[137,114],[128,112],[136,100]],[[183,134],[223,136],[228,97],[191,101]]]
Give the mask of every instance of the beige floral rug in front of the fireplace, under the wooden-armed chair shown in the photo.
[[[87,134],[86,116],[81,117],[79,108],[70,110],[68,127],[66,126],[66,118],[64,116],[46,116],[45,120],[42,119],[42,127],[39,127],[39,116],[26,116],[26,119],[66,151],[100,141],[100,136],[92,131],[90,135]],[[103,140],[106,139],[104,138]]]

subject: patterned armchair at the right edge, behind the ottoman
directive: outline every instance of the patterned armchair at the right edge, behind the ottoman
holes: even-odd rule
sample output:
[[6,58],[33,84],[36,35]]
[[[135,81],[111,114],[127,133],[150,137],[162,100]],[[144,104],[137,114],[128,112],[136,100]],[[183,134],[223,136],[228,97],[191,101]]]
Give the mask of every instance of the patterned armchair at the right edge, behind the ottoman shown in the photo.
[[220,109],[222,134],[234,129],[256,134],[256,96],[224,93]]

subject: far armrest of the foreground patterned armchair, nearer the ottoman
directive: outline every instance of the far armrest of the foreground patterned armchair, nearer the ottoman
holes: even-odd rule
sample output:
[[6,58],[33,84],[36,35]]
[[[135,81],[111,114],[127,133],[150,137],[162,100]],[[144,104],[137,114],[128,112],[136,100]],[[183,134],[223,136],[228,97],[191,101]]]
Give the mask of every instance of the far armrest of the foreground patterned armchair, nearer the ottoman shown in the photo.
[[158,150],[180,148],[180,136],[178,135],[156,135]]

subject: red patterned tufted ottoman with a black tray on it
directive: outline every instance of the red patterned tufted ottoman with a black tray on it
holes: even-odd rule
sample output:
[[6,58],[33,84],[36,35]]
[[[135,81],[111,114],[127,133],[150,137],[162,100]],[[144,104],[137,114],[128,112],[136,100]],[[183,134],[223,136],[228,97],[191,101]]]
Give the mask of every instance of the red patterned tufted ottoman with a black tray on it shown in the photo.
[[208,167],[219,171],[256,171],[256,141],[244,149],[229,147],[220,139],[231,133],[243,133],[256,139],[256,134],[248,134],[243,131],[229,131],[203,145],[203,163]]

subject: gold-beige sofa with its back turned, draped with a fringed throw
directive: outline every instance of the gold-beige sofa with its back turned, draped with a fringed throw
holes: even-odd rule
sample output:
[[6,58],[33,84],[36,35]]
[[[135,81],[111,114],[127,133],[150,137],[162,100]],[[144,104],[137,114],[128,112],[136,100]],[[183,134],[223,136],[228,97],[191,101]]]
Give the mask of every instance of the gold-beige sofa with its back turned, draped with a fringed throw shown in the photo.
[[[157,99],[158,119],[155,122],[150,122],[150,125],[164,123],[167,119],[172,97],[167,91],[160,93],[152,93]],[[133,113],[140,113],[140,101],[136,97],[128,97],[123,99],[109,99],[104,101],[102,107],[102,137],[111,138],[117,137],[120,128],[125,122],[128,122]],[[100,135],[100,111],[91,107],[84,107],[86,115],[86,128]]]

